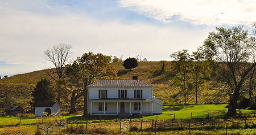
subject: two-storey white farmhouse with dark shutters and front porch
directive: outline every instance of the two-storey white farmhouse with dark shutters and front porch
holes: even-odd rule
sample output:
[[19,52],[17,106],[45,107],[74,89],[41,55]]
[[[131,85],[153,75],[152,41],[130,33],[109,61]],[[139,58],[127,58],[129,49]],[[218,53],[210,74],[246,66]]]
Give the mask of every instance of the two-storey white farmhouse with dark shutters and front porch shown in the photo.
[[99,80],[87,86],[89,115],[162,114],[162,101],[152,96],[152,85],[138,80]]

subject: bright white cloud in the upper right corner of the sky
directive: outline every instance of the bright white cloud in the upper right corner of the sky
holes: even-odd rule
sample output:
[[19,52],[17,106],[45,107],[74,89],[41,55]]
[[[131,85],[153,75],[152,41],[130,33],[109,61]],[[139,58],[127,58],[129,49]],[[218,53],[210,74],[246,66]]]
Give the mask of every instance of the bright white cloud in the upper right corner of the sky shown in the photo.
[[251,25],[256,21],[254,0],[120,0],[119,5],[163,23],[181,20],[194,25]]

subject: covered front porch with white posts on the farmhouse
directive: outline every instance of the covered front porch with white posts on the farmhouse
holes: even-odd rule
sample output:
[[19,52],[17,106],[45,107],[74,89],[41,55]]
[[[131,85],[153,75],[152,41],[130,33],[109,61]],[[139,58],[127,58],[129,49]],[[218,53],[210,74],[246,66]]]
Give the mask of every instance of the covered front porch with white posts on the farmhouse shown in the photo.
[[152,99],[93,99],[89,101],[90,115],[152,115]]

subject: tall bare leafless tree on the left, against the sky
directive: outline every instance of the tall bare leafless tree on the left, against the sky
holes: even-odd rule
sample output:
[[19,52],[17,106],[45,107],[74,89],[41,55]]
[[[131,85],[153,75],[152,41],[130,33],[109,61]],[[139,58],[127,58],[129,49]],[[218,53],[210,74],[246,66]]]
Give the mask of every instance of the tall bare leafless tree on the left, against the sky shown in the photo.
[[[51,72],[48,70],[48,76],[50,76],[56,84],[56,91],[57,91],[57,101],[60,103],[61,93],[63,90],[64,78],[65,78],[65,66],[68,62],[69,55],[71,54],[71,45],[67,45],[64,43],[60,43],[59,45],[53,46],[52,48],[47,49],[44,51],[46,55],[46,59],[53,63],[55,66],[55,71]],[[57,73],[57,78],[53,77],[51,73]]]

